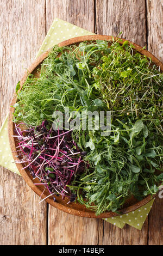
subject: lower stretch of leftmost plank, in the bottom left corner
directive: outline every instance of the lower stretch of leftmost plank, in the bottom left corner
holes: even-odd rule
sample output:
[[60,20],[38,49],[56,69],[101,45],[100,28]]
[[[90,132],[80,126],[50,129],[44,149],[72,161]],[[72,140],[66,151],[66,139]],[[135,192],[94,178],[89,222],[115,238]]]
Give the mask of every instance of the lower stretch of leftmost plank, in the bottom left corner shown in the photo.
[[21,176],[0,172],[0,245],[46,245],[46,204]]

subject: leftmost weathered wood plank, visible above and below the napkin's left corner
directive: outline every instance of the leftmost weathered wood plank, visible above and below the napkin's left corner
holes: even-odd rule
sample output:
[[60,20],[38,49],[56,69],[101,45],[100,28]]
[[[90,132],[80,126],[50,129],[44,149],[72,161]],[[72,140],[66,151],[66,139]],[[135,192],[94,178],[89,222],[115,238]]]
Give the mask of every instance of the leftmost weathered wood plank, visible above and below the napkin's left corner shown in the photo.
[[[2,0],[0,11],[2,124],[16,84],[45,38],[45,1]],[[17,174],[4,168],[0,173],[0,244],[45,245],[46,203],[38,204],[40,198]]]

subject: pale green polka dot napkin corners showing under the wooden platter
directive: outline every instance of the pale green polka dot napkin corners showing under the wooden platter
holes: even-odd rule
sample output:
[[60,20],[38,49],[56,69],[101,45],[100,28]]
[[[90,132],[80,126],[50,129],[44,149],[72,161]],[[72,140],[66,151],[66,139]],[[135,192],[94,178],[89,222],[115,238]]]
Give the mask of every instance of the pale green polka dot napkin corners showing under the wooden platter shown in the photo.
[[[49,29],[45,40],[40,47],[39,52],[37,53],[38,57],[42,52],[48,50],[53,45],[58,44],[61,41],[74,38],[80,35],[92,35],[93,33],[86,31],[85,29],[79,28],[72,25],[71,23],[62,21],[60,19],[54,19],[51,28]],[[5,118],[4,123],[0,129],[0,165],[11,170],[14,173],[18,172],[14,159],[12,158],[11,149],[8,139],[8,116]],[[136,229],[141,229],[143,223],[148,216],[149,211],[152,208],[154,199],[151,202],[147,203],[145,206],[142,206],[140,209],[137,209],[128,214],[120,215],[113,218],[104,218],[105,221],[110,222],[111,224],[116,225],[119,228],[123,228],[127,223]]]

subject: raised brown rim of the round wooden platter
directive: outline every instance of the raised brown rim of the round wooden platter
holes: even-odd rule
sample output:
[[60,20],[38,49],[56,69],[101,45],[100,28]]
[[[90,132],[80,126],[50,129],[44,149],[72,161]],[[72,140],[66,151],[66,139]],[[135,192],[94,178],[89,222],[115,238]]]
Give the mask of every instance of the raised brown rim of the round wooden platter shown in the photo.
[[[86,35],[86,36],[78,36],[72,39],[68,39],[65,41],[60,42],[58,45],[61,46],[68,46],[71,44],[76,44],[78,42],[82,42],[82,41],[92,41],[92,40],[107,40],[107,41],[113,41],[113,40],[121,40],[120,43],[124,41],[128,41],[129,44],[134,45],[134,48],[136,51],[140,52],[141,54],[147,56],[148,58],[152,59],[152,62],[157,65],[160,66],[160,70],[163,72],[163,64],[160,62],[160,60],[158,58],[156,58],[152,53],[150,53],[149,51],[145,50],[144,48],[142,48],[140,45],[135,44],[134,42],[131,42],[129,40],[126,39],[121,39],[121,38],[117,38],[115,36],[109,36],[109,35]],[[24,84],[24,82],[26,81],[26,78],[29,74],[31,74],[42,62],[45,58],[47,58],[49,52],[51,51],[51,49],[43,52],[39,57],[37,57],[34,62],[29,66],[29,68],[24,72],[24,75],[20,81],[20,90],[22,89],[22,86]],[[18,92],[20,91],[18,90]],[[12,137],[12,135],[14,135],[14,123],[12,122],[12,118],[13,118],[13,113],[14,113],[14,104],[17,101],[17,94],[14,93],[14,96],[12,97],[12,101],[11,101],[11,107],[9,109],[9,120],[8,120],[8,136],[9,136],[9,143],[10,143],[10,148],[11,148],[11,152],[12,152],[12,156],[14,158],[14,160],[17,159],[17,153],[16,153],[16,147],[15,147],[15,139],[14,137]],[[34,185],[34,182],[32,181],[32,179],[29,178],[29,175],[27,174],[26,169],[22,169],[22,164],[21,163],[16,163],[16,166],[20,172],[20,174],[22,175],[22,178],[26,181],[26,183],[29,185],[30,188],[32,188],[32,190],[38,194],[38,196],[41,196],[41,198],[45,198],[46,195],[42,194],[42,191],[39,189],[39,187],[37,187],[36,185]],[[41,195],[42,194],[42,195]],[[145,198],[143,198],[140,202],[137,202],[133,205],[128,206],[127,208],[124,208],[121,210],[120,214],[116,214],[115,212],[103,212],[102,214],[96,216],[95,212],[93,211],[88,211],[85,207],[85,209],[83,211],[79,211],[78,209],[73,209],[68,207],[69,205],[62,205],[60,203],[54,202],[53,199],[51,199],[51,197],[45,199],[45,201],[48,204],[51,204],[52,206],[54,206],[55,208],[64,211],[68,214],[71,215],[76,215],[76,216],[80,216],[80,217],[88,217],[88,218],[110,218],[110,217],[116,217],[116,216],[120,216],[123,214],[127,214],[131,211],[135,211],[137,209],[139,209],[141,206],[146,205],[147,203],[151,202],[151,200],[153,200],[153,198],[155,198],[157,196],[157,193],[153,196],[149,195]],[[74,205],[76,203],[73,203]],[[81,205],[79,203],[77,203],[78,205]]]

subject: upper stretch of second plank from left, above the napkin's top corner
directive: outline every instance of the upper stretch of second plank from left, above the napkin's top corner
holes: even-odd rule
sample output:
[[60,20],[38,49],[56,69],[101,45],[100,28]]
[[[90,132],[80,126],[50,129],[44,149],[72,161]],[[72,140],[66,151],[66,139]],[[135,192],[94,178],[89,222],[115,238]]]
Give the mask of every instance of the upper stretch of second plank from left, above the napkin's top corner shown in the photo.
[[59,18],[94,32],[94,4],[94,0],[46,0],[47,29],[51,26],[54,18]]

